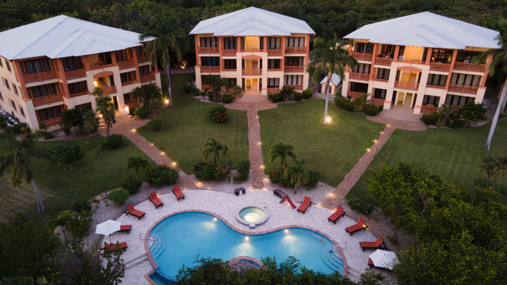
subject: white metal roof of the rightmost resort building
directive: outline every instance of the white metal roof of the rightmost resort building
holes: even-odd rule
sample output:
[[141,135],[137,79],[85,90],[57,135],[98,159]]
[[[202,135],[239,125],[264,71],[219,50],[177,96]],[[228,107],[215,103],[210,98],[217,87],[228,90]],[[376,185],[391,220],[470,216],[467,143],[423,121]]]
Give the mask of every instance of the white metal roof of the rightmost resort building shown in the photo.
[[345,38],[368,39],[371,43],[460,49],[496,49],[499,33],[481,26],[430,12],[422,12],[360,27]]

